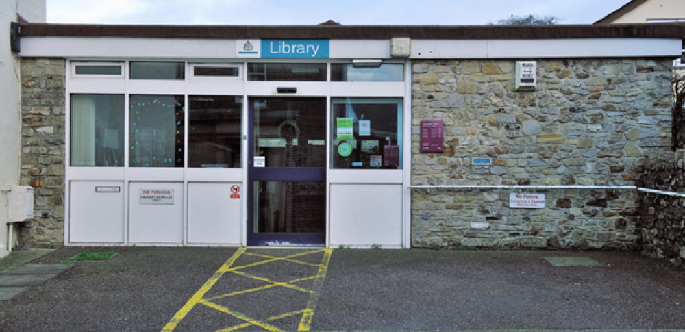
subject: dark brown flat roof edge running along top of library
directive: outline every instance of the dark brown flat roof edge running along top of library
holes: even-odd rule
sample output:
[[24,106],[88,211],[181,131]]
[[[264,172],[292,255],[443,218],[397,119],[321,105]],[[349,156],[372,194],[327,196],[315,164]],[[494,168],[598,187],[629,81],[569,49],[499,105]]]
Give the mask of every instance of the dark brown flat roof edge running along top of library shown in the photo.
[[683,23],[616,25],[74,25],[22,23],[22,36],[263,39],[683,38]]

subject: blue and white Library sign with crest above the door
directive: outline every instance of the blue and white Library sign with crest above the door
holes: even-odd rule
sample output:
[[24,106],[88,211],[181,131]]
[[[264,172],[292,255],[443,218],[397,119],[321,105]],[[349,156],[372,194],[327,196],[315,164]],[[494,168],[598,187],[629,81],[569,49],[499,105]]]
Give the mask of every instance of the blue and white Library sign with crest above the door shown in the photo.
[[238,58],[329,58],[327,39],[238,39]]

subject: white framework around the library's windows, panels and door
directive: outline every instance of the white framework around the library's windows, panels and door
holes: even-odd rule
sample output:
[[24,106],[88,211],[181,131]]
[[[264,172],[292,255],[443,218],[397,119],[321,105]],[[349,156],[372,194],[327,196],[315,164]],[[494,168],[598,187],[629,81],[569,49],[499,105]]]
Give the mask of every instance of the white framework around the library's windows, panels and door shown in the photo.
[[[149,61],[147,58],[146,61]],[[157,60],[157,59],[154,59]],[[131,183],[136,181],[145,182],[182,182],[184,183],[184,190],[182,197],[188,197],[188,183],[191,182],[231,182],[242,183],[242,188],[247,188],[247,112],[250,97],[271,96],[277,94],[277,88],[282,86],[297,87],[297,94],[295,96],[310,96],[310,97],[326,97],[326,127],[327,127],[327,142],[329,141],[329,132],[331,131],[331,101],[336,97],[371,97],[371,98],[387,98],[399,97],[403,98],[403,105],[401,105],[403,116],[403,144],[401,147],[401,154],[403,159],[403,169],[401,170],[337,170],[332,169],[330,165],[331,151],[326,149],[326,171],[327,171],[327,188],[333,183],[339,184],[392,184],[397,186],[404,186],[403,189],[403,244],[404,247],[410,246],[410,192],[406,186],[411,179],[411,62],[393,61],[404,64],[404,81],[402,82],[332,82],[330,80],[331,63],[336,62],[334,59],[328,59],[327,64],[327,79],[326,81],[248,81],[247,80],[247,64],[249,62],[284,62],[285,60],[269,60],[269,59],[245,59],[245,60],[227,60],[225,63],[221,62],[203,62],[202,60],[181,60],[186,63],[186,76],[184,80],[176,81],[158,81],[158,80],[131,80],[128,79],[129,63],[131,61],[140,61],[140,59],[127,60],[67,60],[66,69],[70,75],[66,77],[66,153],[69,155],[71,151],[71,128],[69,118],[71,116],[70,95],[71,94],[124,94],[125,95],[125,145],[129,145],[130,137],[130,112],[129,101],[132,94],[182,94],[185,97],[186,108],[189,107],[188,98],[191,95],[199,94],[218,94],[230,96],[242,96],[243,103],[243,118],[242,118],[242,168],[226,168],[226,169],[195,169],[188,168],[188,130],[184,130],[184,167],[182,168],[132,168],[129,166],[129,149],[125,149],[124,167],[110,168],[110,167],[75,167],[71,164],[66,164],[66,181],[116,181],[123,183],[121,190],[125,196],[124,209],[129,209],[129,187]],[[300,60],[304,61],[304,60]],[[312,61],[312,60],[310,60]],[[317,60],[313,60],[317,62]],[[298,62],[297,60],[287,60],[287,62]],[[343,61],[344,62],[344,61]],[[121,75],[75,75],[76,66],[86,64],[99,66],[121,66]],[[196,77],[193,75],[195,66],[237,66],[238,77]],[[188,73],[190,71],[190,73]],[[220,84],[217,84],[220,83]],[[189,125],[188,112],[184,118],[186,126]],[[68,159],[67,159],[68,160]],[[66,186],[66,197],[70,197],[70,186]],[[330,192],[327,189],[327,197],[330,197]],[[66,220],[65,229],[69,228],[69,211],[70,201],[65,201]],[[187,205],[184,203],[184,209]],[[242,227],[245,227],[247,222],[247,199],[242,200]],[[329,202],[327,202],[327,216],[329,215]],[[128,218],[128,217],[127,217]],[[188,242],[188,216],[184,211],[183,220],[183,240],[180,245],[191,245]],[[129,232],[130,220],[125,220],[123,230],[125,234]],[[328,221],[329,222],[329,221]],[[330,225],[327,225],[327,245],[329,245]],[[67,245],[80,244],[73,242],[69,238],[69,231],[65,231],[64,243]],[[130,244],[128,235],[125,235],[124,245]],[[247,231],[242,229],[242,244],[247,244]],[[88,245],[108,245],[108,243]]]

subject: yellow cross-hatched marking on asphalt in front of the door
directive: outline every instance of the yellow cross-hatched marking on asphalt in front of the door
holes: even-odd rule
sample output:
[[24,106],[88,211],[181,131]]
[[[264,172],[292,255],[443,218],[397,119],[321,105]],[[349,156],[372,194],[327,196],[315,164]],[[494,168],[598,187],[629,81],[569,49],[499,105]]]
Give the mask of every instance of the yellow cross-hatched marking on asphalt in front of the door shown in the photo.
[[[273,253],[274,255],[266,255],[264,254],[264,251],[268,251],[270,254]],[[297,251],[297,253],[292,253],[292,251]],[[278,253],[284,253],[284,255],[277,256],[276,254]],[[288,255],[288,253],[291,254]],[[226,326],[216,331],[236,331],[246,327],[260,327],[266,331],[292,331],[295,328],[297,328],[297,331],[310,331],[312,326],[312,317],[314,316],[314,310],[316,309],[316,302],[319,300],[319,294],[321,288],[323,287],[323,280],[326,277],[326,272],[328,271],[328,264],[330,262],[332,253],[333,249],[329,248],[316,249],[313,251],[299,251],[296,249],[238,248],[236,253],[227,259],[227,261],[225,261],[219,270],[216,270],[212,277],[210,277],[210,279],[208,279],[208,281],[206,281],[204,285],[202,285],[202,287],[195,292],[188,302],[186,302],[186,304],[179,309],[179,311],[177,311],[173,318],[171,318],[166,326],[164,326],[162,331],[174,331],[174,329],[177,329],[179,324],[181,324],[186,317],[192,317],[192,309],[196,305],[211,308],[213,310],[210,311],[216,312],[218,315],[228,315],[232,317],[232,319],[237,319],[240,321],[240,324],[232,324],[231,326]],[[323,255],[320,261],[317,259],[317,257],[319,257],[318,255]],[[257,259],[257,261],[253,261],[254,259]],[[309,259],[310,261],[306,261],[306,259]],[[312,262],[312,259],[316,259],[317,262]],[[238,260],[245,261],[245,263],[238,264]],[[268,274],[264,271],[273,273],[274,269],[276,271],[284,270],[282,266],[277,266],[276,268],[272,267],[271,270],[268,268],[265,269],[265,264],[273,265],[273,263],[298,264],[303,266],[305,269],[316,268],[317,271],[316,274],[300,276],[294,279],[290,279],[292,277],[288,277],[287,279],[290,279],[288,281],[275,280],[278,279],[278,277],[264,275]],[[259,270],[260,268],[262,268],[262,270]],[[297,273],[303,272],[301,269],[296,270]],[[288,271],[292,272],[290,269],[288,269]],[[234,289],[231,290],[231,292],[225,292],[225,294],[216,295],[216,292],[224,292],[223,290],[216,290],[217,288],[221,287],[215,287],[222,278],[227,279],[227,281],[221,281],[221,285],[230,285],[236,288],[240,283],[238,282],[238,279],[241,281],[252,280],[265,284],[258,285],[256,287],[247,287],[245,289]],[[296,285],[297,283],[302,283],[305,281],[312,281],[312,283],[308,287],[305,285]],[[206,296],[210,290],[214,292],[214,295]],[[237,305],[226,305],[225,303],[220,304],[216,302],[224,301],[230,298],[237,299],[237,296],[245,295],[251,296],[247,299],[247,301],[260,301],[260,291],[264,290],[295,290],[299,294],[307,294],[308,301],[306,304],[302,304],[303,307],[301,307],[301,309],[288,311],[283,314],[272,314],[269,317],[260,318],[252,317],[259,316],[258,314],[245,314],[240,312],[240,310],[236,310]],[[241,299],[241,301],[246,301],[245,298]],[[303,298],[301,298],[301,300],[303,301]],[[288,298],[288,301],[297,300],[291,296]],[[295,305],[297,305],[297,303],[295,303]],[[241,310],[245,309],[243,308],[243,305],[240,305],[240,307]],[[279,327],[279,324],[284,324],[283,322],[279,322],[279,320],[283,320],[284,318],[295,318],[299,315],[301,315],[301,318],[297,327]],[[262,316],[268,315],[262,314]],[[195,329],[196,331],[198,329],[198,327],[190,328]]]

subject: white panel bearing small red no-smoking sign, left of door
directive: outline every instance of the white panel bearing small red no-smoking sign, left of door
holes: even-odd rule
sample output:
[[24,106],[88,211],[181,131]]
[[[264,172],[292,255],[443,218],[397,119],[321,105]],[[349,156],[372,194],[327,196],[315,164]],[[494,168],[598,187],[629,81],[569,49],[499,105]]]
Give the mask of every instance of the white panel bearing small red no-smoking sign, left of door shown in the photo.
[[188,183],[188,243],[242,240],[242,183]]

